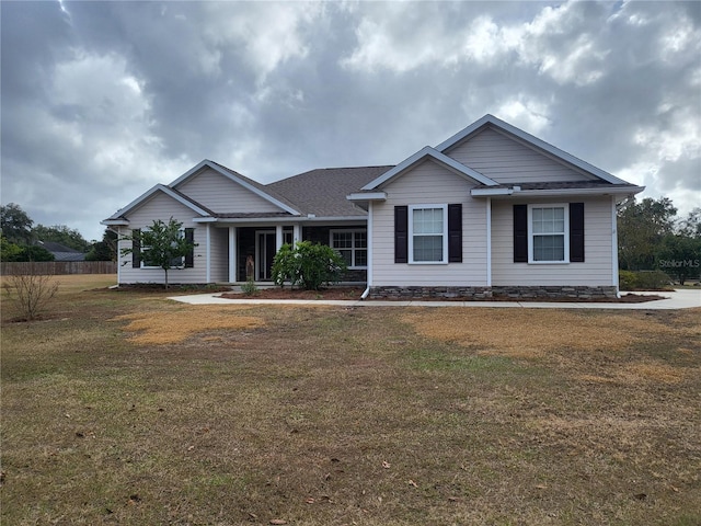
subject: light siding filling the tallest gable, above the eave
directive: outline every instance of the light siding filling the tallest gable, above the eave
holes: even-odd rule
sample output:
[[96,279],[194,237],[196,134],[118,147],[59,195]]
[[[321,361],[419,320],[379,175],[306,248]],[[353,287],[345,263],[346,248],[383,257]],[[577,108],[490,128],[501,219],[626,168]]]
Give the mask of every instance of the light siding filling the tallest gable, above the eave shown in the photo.
[[595,179],[491,128],[455,146],[446,155],[497,183]]

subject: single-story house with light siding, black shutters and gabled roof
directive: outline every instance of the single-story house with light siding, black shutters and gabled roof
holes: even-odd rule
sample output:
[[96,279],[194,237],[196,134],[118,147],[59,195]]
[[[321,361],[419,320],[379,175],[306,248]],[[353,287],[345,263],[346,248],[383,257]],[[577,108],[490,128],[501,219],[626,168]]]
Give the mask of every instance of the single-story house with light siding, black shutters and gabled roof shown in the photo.
[[[297,240],[338,250],[370,297],[611,296],[616,207],[644,187],[492,115],[397,165],[320,169],[261,184],[210,160],[102,224],[120,236],[173,217],[197,247],[176,283],[271,281]],[[120,241],[120,248],[127,247]],[[118,283],[163,272],[120,256]]]

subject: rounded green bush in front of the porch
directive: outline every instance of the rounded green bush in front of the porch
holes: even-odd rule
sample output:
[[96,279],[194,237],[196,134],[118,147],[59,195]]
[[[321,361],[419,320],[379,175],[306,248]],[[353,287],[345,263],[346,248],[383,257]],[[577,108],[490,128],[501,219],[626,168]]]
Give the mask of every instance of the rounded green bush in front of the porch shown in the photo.
[[346,263],[338,252],[325,244],[298,241],[284,244],[273,261],[273,281],[280,287],[289,283],[307,290],[319,290],[322,284],[338,283]]

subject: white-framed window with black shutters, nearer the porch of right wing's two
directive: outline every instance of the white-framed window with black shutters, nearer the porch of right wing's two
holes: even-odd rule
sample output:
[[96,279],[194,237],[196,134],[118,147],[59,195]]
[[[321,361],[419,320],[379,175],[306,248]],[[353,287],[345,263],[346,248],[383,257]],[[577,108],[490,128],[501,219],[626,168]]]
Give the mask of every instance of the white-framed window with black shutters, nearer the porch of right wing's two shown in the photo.
[[447,263],[447,205],[409,207],[410,263]]

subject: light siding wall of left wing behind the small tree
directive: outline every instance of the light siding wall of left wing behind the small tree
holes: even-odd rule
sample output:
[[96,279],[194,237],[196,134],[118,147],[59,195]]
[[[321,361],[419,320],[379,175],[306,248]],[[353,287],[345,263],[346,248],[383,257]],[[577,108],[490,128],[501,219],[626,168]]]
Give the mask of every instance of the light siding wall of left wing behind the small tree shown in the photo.
[[[173,219],[181,221],[183,228],[194,228],[194,241],[198,243],[195,248],[194,267],[192,268],[171,268],[168,271],[169,283],[206,283],[206,244],[207,237],[205,226],[193,222],[193,218],[197,215],[174,201],[163,193],[156,193],[150,199],[143,203],[129,214],[129,228],[122,229],[124,235],[131,233],[131,229],[148,228],[153,220],[162,221]],[[119,249],[130,248],[131,241],[119,241]],[[164,273],[162,268],[133,268],[131,254],[120,255],[119,268],[120,283],[164,283]]]

